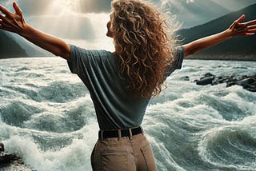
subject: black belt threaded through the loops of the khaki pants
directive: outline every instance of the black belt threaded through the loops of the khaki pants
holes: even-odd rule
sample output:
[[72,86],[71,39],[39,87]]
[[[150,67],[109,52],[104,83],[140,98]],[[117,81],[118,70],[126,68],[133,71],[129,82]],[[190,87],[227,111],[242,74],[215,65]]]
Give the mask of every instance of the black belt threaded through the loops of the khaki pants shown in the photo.
[[[121,132],[121,137],[130,137],[133,135],[137,135],[139,133],[143,133],[143,130],[140,126],[131,129],[119,129]],[[110,137],[118,137],[118,129],[117,130],[99,130],[98,138],[110,138]]]

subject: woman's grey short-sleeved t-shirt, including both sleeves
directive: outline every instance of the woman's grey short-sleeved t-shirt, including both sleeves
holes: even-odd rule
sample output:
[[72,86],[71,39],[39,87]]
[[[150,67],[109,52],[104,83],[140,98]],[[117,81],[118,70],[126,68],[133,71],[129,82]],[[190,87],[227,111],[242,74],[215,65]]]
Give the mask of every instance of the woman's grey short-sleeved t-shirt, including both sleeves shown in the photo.
[[[99,128],[125,129],[141,125],[150,98],[134,97],[125,89],[126,82],[119,77],[119,58],[106,50],[85,50],[73,45],[70,48],[70,71],[78,74],[89,90]],[[182,46],[176,48],[174,57],[175,61],[166,70],[166,77],[181,69]]]

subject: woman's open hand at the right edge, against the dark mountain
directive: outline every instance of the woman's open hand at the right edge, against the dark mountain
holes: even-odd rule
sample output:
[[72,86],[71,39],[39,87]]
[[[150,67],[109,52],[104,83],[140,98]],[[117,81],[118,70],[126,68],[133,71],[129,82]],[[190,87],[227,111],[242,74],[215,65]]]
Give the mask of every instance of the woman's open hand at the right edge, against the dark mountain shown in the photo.
[[250,36],[256,32],[256,19],[250,22],[242,22],[246,18],[243,14],[240,18],[233,22],[228,30],[226,30],[231,38],[238,36]]

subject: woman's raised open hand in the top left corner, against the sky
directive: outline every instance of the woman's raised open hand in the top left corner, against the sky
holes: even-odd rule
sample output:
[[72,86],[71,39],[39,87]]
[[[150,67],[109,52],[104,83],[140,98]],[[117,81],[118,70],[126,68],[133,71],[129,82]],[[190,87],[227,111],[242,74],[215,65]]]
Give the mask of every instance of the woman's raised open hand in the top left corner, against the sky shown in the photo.
[[17,2],[13,3],[14,13],[11,13],[6,7],[0,5],[0,29],[22,34],[25,29],[26,22],[22,14],[22,10],[19,8]]

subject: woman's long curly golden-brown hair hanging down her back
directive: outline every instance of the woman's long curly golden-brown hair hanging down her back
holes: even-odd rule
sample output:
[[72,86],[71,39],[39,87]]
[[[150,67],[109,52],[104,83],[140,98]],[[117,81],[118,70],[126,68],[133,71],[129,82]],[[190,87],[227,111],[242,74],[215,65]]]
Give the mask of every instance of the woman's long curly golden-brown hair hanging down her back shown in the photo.
[[113,0],[110,31],[115,54],[121,59],[126,88],[142,98],[157,96],[173,61],[174,38],[168,18],[142,0]]

